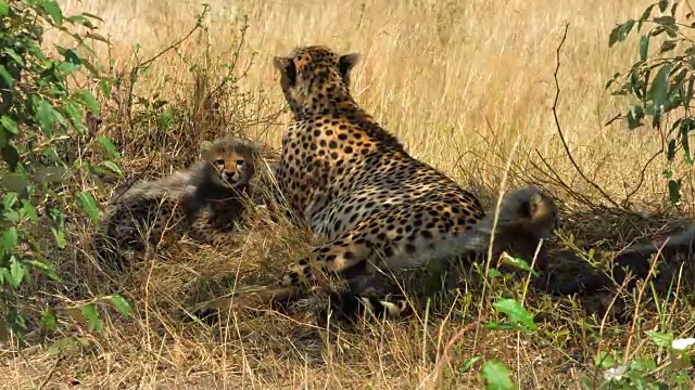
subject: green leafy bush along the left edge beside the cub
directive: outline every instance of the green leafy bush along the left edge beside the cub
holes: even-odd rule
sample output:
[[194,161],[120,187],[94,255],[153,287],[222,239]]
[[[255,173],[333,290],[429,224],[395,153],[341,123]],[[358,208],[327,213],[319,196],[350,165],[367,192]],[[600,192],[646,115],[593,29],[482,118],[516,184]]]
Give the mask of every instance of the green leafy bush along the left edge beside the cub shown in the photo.
[[[35,276],[60,283],[51,255],[76,251],[66,223],[78,212],[99,218],[86,187],[96,177],[121,174],[113,143],[94,133],[100,107],[90,88],[104,94],[110,88],[87,60],[86,42],[104,40],[96,34],[97,18],[65,16],[54,0],[0,0],[0,328],[20,341],[27,330],[24,310],[40,304]],[[74,46],[45,50],[49,29],[72,37]],[[122,298],[111,298],[129,310]],[[42,325],[54,328],[52,309],[42,310]],[[81,311],[91,327],[99,326],[93,306]]]

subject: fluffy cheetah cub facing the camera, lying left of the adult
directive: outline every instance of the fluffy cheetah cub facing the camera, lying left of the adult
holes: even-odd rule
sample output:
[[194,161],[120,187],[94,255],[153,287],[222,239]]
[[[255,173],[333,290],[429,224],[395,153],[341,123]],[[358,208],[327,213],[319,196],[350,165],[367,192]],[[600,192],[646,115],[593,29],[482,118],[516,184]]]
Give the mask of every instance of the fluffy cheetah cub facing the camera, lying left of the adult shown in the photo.
[[198,242],[225,245],[244,211],[258,145],[228,136],[204,141],[188,170],[117,190],[94,236],[101,259],[122,269],[116,248],[142,251],[185,233]]

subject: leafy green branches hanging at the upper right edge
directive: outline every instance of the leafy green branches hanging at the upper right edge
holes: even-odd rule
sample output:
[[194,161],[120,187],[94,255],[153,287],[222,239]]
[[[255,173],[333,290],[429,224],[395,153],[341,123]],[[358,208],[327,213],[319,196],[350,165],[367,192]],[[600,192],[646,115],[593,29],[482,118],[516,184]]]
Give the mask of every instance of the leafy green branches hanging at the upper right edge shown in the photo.
[[664,177],[668,180],[669,198],[675,205],[680,204],[681,184],[688,174],[688,170],[681,177],[675,174],[677,156],[680,154],[687,167],[693,166],[688,135],[695,129],[690,105],[695,86],[695,41],[691,38],[695,13],[685,2],[685,21],[678,21],[679,4],[660,0],[649,4],[639,18],[630,18],[610,31],[610,47],[627,40],[633,31],[640,34],[639,60],[606,84],[614,95],[632,101],[627,112],[612,120],[623,119],[630,130],[649,125],[664,140]]

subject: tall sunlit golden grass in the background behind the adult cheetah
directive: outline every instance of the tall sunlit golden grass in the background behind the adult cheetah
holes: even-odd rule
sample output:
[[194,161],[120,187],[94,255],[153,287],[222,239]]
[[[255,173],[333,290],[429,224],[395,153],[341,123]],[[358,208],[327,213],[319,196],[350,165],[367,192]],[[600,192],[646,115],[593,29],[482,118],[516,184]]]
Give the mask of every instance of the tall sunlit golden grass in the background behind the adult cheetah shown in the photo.
[[[62,3],[67,13],[87,10],[104,20],[101,31],[113,42],[110,55],[116,65],[125,65],[138,43],[142,57],[164,49],[191,28],[201,9],[193,1]],[[518,138],[515,162],[520,169],[538,162],[538,151],[578,191],[596,195],[565,158],[551,113],[555,51],[565,22],[569,31],[560,57],[558,112],[582,169],[619,197],[626,185],[636,182],[645,156],[660,147],[647,131],[642,136],[619,125],[604,126],[623,109],[604,86],[636,55],[630,43],[609,50],[607,35],[617,22],[639,14],[646,1],[208,3],[207,39],[218,51],[213,54],[233,49],[240,20],[249,17],[242,61],[257,55],[244,88],[267,93],[279,107],[283,102],[271,67],[274,55],[314,43],[361,52],[363,62],[353,81],[359,103],[413,155],[462,180],[496,185]],[[181,51],[194,55],[201,47],[200,41],[189,41]],[[109,55],[105,47],[97,50],[104,58]],[[175,55],[163,60],[140,88],[181,88],[188,66]],[[273,127],[262,141],[278,145],[281,133],[282,126]],[[661,197],[660,168],[648,173],[641,194]]]

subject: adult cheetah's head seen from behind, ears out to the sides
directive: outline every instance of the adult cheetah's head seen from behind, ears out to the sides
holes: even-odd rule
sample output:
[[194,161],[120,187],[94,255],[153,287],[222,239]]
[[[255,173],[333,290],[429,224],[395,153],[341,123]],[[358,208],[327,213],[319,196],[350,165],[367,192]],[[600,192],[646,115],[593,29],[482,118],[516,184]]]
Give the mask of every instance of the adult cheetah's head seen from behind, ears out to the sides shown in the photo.
[[285,99],[300,117],[339,103],[331,99],[350,99],[350,70],[358,61],[358,53],[341,55],[326,47],[309,46],[294,49],[289,56],[276,56],[273,65],[280,72]]

